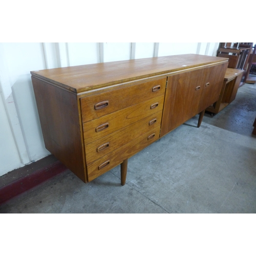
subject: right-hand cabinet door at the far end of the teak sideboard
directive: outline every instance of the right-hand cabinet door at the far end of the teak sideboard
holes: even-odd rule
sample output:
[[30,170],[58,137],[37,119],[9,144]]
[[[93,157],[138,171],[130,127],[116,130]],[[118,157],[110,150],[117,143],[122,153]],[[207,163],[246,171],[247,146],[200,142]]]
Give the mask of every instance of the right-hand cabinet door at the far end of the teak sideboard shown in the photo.
[[228,63],[205,68],[205,81],[202,87],[198,113],[219,99]]

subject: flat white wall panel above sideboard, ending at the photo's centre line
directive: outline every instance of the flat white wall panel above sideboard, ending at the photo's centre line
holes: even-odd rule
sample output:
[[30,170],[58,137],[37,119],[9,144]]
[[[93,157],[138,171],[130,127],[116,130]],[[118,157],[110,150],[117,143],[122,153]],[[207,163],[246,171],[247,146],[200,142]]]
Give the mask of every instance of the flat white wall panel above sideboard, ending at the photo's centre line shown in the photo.
[[103,42],[103,62],[131,59],[131,42]]

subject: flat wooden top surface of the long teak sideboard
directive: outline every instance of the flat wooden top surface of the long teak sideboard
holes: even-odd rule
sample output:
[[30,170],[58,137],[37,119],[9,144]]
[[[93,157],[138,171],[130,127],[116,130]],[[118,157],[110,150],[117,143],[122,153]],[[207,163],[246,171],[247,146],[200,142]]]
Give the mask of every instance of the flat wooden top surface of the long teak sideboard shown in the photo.
[[226,61],[228,61],[228,58],[183,54],[31,71],[31,74],[33,77],[44,79],[62,88],[79,93],[111,84]]

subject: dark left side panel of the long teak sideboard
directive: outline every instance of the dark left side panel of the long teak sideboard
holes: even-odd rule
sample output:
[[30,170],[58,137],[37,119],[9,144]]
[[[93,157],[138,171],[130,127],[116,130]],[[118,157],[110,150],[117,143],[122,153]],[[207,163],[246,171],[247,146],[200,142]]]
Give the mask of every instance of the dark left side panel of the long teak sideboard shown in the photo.
[[86,182],[76,94],[34,77],[32,83],[47,150]]

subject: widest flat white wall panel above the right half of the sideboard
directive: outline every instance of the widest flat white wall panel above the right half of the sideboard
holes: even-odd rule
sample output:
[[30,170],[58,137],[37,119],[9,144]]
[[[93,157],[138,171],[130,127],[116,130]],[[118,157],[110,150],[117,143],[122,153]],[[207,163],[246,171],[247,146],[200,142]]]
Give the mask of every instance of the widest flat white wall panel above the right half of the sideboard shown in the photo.
[[197,53],[198,42],[160,42],[158,56]]

